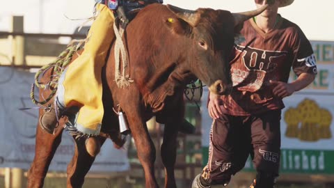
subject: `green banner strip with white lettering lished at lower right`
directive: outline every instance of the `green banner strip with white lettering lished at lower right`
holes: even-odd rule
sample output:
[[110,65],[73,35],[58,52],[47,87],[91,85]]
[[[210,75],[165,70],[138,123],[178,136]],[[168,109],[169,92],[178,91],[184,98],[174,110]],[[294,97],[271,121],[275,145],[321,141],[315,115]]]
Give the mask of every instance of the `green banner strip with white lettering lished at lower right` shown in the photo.
[[[203,165],[207,164],[208,147],[202,147]],[[244,171],[255,171],[248,157]],[[280,156],[280,173],[334,174],[333,150],[288,150]]]

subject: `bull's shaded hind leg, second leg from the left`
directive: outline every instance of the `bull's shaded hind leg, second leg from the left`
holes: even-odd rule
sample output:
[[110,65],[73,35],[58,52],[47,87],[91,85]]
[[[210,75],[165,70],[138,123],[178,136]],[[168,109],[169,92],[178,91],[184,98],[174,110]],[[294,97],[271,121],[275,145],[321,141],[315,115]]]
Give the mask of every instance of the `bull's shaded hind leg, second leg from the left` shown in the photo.
[[[98,136],[101,146],[106,138]],[[86,150],[86,139],[74,139],[75,150],[71,162],[67,166],[67,188],[82,187],[84,185],[85,176],[92,166],[95,157],[88,154]]]

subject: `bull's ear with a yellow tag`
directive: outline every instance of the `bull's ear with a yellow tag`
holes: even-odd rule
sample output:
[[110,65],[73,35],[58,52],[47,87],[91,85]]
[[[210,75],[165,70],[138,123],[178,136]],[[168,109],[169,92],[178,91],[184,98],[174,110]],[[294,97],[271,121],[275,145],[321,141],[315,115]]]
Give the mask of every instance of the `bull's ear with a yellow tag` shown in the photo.
[[193,26],[180,18],[168,18],[166,25],[173,33],[183,36],[190,36],[193,31]]

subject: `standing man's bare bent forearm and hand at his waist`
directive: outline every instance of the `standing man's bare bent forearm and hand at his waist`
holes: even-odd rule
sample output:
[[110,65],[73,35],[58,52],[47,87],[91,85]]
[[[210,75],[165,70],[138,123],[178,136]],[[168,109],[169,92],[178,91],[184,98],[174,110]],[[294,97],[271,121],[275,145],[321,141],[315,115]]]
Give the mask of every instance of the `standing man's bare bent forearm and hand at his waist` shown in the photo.
[[284,98],[292,95],[295,91],[300,91],[305,88],[311,84],[313,80],[315,80],[315,75],[304,72],[301,73],[295,81],[289,84],[282,81],[270,81],[270,84],[274,86],[273,95]]

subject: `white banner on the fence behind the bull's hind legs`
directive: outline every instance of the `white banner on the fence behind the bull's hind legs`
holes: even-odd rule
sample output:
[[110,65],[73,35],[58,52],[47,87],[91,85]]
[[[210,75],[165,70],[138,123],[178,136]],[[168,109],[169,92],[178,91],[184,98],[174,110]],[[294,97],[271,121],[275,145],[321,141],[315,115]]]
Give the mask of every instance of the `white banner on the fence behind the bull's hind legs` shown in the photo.
[[[0,67],[0,168],[29,169],[33,161],[38,109],[19,109],[35,107],[29,97],[34,75],[15,68]],[[64,131],[49,170],[66,171],[73,152],[74,141]],[[127,170],[127,150],[117,150],[109,139],[90,169],[100,172]]]

